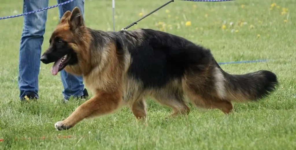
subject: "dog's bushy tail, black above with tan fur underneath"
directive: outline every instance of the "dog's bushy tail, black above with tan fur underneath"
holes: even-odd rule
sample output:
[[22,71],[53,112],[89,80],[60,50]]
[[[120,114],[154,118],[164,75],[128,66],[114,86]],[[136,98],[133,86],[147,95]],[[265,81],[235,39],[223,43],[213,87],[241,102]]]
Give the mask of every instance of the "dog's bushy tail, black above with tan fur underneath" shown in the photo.
[[224,75],[225,96],[229,101],[257,101],[268,96],[278,85],[277,77],[271,71],[259,70],[233,75],[223,71],[221,67],[219,69]]

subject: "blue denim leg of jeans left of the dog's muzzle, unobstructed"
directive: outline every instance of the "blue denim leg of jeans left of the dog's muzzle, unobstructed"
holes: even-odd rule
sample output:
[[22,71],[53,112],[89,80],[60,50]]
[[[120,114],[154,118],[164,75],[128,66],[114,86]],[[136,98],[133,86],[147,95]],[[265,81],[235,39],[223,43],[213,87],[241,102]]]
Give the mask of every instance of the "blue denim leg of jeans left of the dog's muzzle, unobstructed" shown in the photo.
[[[23,13],[48,6],[48,0],[24,0]],[[24,16],[19,51],[18,86],[20,98],[29,92],[38,98],[38,74],[40,71],[41,45],[45,32],[47,10]]]

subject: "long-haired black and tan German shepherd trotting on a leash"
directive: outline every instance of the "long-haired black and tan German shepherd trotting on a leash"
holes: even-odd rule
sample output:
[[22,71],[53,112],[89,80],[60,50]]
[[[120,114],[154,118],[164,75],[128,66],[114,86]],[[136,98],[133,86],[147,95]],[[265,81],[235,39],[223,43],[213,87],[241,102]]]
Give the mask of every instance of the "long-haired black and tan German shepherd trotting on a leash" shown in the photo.
[[40,60],[54,62],[52,75],[62,69],[81,75],[94,95],[55,123],[57,130],[69,129],[85,118],[115,113],[123,106],[137,120],[146,120],[147,97],[172,108],[171,116],[188,115],[187,102],[228,114],[233,109],[231,102],[257,101],[278,85],[276,75],[266,70],[226,73],[210,50],[176,35],[152,29],[90,29],[78,7],[65,12],[49,43]]

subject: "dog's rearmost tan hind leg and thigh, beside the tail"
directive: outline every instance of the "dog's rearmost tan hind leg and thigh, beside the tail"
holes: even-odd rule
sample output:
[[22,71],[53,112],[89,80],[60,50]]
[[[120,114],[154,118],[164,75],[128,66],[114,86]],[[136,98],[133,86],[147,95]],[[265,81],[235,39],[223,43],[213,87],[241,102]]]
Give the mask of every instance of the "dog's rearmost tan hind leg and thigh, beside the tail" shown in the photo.
[[231,102],[223,98],[225,94],[223,80],[215,81],[215,76],[211,72],[186,75],[183,89],[196,107],[220,109],[225,114],[232,112]]

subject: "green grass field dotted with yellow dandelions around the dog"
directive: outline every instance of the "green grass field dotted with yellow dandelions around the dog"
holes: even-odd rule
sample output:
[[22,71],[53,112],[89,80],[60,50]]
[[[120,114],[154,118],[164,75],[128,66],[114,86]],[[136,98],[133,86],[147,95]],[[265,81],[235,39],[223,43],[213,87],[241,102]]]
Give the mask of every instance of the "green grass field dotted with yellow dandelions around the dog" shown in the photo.
[[[116,30],[120,30],[168,0],[115,1]],[[54,4],[56,1],[50,1],[49,5]],[[191,106],[187,118],[164,123],[171,110],[150,100],[147,127],[137,124],[131,111],[124,108],[82,121],[67,131],[56,131],[54,123],[83,101],[63,104],[60,76],[50,74],[51,65],[41,64],[40,99],[21,105],[17,75],[23,18],[0,20],[0,139],[4,139],[0,149],[296,149],[295,9],[296,0],[175,1],[130,28],[152,28],[185,37],[210,48],[218,62],[268,59],[221,65],[234,74],[261,69],[275,72],[280,85],[268,98],[234,103],[234,113],[228,116]],[[1,17],[21,13],[22,1],[1,0]],[[57,8],[48,11],[47,20],[42,51],[58,22]],[[112,30],[111,0],[85,0],[85,20],[88,27]],[[31,139],[21,140],[28,137]]]

